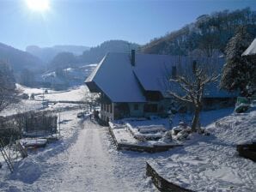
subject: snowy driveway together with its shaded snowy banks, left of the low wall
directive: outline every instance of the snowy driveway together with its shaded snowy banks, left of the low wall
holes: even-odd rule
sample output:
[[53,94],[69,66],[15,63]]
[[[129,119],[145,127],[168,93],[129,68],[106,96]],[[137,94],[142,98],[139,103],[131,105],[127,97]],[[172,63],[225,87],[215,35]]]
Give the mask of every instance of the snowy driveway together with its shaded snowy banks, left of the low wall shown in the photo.
[[0,191],[157,191],[145,176],[149,154],[117,152],[107,128],[79,111],[61,113],[62,139],[0,170]]

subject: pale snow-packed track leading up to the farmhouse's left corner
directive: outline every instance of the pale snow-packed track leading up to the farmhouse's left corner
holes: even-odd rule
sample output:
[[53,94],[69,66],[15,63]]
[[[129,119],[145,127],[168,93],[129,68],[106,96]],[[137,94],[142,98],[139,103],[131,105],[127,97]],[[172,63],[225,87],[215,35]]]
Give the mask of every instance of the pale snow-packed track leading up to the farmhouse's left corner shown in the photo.
[[104,139],[106,129],[84,123],[76,143],[68,151],[67,170],[60,180],[62,191],[137,191],[115,175],[114,162]]

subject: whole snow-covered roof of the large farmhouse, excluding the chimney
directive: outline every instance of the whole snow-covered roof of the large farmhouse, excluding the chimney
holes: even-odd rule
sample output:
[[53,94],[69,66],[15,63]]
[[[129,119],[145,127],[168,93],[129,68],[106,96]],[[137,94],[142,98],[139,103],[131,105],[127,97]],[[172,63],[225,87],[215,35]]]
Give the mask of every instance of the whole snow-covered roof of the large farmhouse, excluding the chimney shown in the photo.
[[[135,56],[135,66],[131,65],[129,53],[108,53],[97,65],[87,82],[94,82],[113,102],[145,102],[143,90],[158,91],[168,97],[168,90],[180,92],[179,87],[168,78],[172,68],[184,67],[191,63],[189,57],[155,54]],[[168,75],[168,76],[167,76]],[[216,85],[209,86],[206,97],[227,97],[227,92],[219,91]]]

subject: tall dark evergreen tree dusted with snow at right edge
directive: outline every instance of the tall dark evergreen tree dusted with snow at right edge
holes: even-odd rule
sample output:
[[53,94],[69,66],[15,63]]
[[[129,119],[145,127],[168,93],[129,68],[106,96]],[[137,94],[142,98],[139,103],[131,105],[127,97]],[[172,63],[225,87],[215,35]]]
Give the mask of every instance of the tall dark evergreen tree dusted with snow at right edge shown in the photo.
[[241,57],[243,51],[252,42],[252,37],[248,35],[245,28],[238,29],[233,38],[229,40],[226,47],[226,58],[222,71],[221,87],[228,91],[239,90],[241,95],[248,96],[247,87],[253,84],[253,63],[247,61],[246,57]]

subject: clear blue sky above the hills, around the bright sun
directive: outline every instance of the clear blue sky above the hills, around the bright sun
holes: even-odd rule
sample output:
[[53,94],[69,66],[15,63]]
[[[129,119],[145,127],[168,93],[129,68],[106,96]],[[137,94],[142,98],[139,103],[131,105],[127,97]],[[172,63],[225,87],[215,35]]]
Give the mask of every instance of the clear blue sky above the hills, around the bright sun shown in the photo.
[[256,10],[255,0],[49,0],[50,9],[28,9],[26,0],[0,0],[0,42],[95,46],[109,39],[145,44],[199,15],[223,9]]

